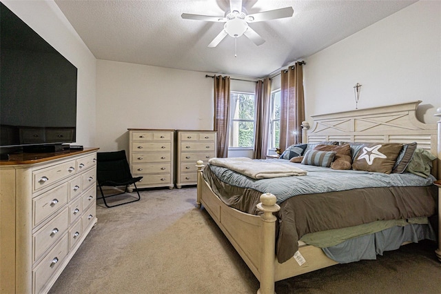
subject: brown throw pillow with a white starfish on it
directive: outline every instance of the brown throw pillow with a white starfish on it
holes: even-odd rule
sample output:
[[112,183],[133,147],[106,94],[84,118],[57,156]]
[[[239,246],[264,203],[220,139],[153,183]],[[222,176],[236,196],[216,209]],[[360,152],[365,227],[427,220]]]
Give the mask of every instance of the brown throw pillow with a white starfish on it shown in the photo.
[[364,144],[356,160],[353,161],[353,170],[367,170],[377,173],[391,173],[393,165],[402,148],[397,143],[370,143]]

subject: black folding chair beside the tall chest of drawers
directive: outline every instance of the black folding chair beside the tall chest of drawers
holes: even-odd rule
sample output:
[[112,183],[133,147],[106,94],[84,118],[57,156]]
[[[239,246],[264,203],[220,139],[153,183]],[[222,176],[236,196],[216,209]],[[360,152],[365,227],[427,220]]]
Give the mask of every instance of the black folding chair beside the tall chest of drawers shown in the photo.
[[[101,197],[97,199],[103,199],[104,205],[106,207],[114,207],[127,203],[132,203],[139,201],[141,195],[139,195],[138,188],[136,188],[136,182],[139,182],[143,177],[132,177],[130,173],[129,163],[127,162],[127,157],[125,157],[125,150],[114,151],[114,152],[99,152],[96,154],[96,178],[101,191]],[[134,197],[134,200],[127,202],[118,202],[118,204],[109,205],[106,202],[106,198],[113,197],[116,195],[126,194],[127,187],[133,185],[134,190],[138,194],[138,197],[127,194],[127,196]],[[104,195],[103,186],[121,187],[125,186],[125,189],[121,193],[116,193],[113,195]]]

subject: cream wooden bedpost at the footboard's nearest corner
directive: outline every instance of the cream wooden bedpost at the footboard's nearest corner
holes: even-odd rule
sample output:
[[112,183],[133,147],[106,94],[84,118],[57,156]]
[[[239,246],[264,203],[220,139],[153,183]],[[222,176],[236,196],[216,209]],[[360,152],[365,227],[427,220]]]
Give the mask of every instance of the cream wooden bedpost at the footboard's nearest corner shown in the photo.
[[271,193],[260,195],[260,203],[257,204],[258,210],[263,211],[260,217],[263,221],[263,248],[260,259],[260,288],[258,294],[274,294],[274,265],[276,262],[276,220],[273,215],[280,206],[276,204],[277,199]]

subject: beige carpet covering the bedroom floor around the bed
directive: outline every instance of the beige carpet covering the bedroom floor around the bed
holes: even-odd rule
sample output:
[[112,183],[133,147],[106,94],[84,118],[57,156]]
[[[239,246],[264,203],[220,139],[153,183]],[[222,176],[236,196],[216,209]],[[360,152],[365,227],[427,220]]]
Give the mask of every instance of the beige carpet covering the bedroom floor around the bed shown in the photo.
[[[196,188],[145,190],[105,208],[50,293],[256,293],[258,280],[205,210]],[[276,283],[283,293],[441,293],[433,242],[375,261],[339,264]]]

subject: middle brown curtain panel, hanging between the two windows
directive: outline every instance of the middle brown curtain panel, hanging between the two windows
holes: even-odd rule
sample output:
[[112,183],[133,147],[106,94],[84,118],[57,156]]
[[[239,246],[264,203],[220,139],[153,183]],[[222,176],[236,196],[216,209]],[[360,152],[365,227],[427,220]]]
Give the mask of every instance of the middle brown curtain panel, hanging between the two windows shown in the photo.
[[265,159],[268,150],[271,79],[256,83],[256,130],[254,133],[254,158]]

